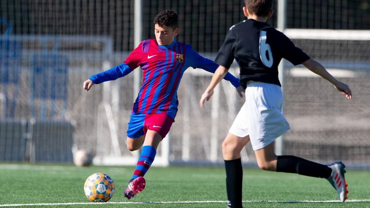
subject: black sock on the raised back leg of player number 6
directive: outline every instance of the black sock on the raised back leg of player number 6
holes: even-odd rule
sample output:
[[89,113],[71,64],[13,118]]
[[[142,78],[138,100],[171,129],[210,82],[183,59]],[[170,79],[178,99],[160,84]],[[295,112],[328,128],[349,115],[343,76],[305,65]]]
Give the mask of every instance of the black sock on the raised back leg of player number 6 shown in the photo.
[[276,172],[291,172],[316,178],[329,178],[332,168],[292,155],[277,156]]

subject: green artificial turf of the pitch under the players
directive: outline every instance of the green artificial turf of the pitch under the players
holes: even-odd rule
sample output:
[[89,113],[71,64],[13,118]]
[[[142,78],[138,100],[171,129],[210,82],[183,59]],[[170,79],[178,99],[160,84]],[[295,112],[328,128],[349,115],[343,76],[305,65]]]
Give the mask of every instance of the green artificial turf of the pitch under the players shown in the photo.
[[[127,200],[124,198],[124,191],[133,171],[134,167],[81,168],[73,165],[1,163],[0,172],[3,178],[0,183],[0,206],[89,202],[84,195],[84,182],[89,175],[103,172],[110,175],[115,183],[114,196],[109,202],[140,202],[140,204],[92,203],[21,207],[226,207],[223,167],[151,167],[145,175],[147,184],[144,191]],[[367,201],[302,202],[338,200],[338,197],[329,182],[322,178],[244,168],[243,206],[370,207],[369,176],[369,171],[347,170],[346,173],[349,199],[367,199]]]

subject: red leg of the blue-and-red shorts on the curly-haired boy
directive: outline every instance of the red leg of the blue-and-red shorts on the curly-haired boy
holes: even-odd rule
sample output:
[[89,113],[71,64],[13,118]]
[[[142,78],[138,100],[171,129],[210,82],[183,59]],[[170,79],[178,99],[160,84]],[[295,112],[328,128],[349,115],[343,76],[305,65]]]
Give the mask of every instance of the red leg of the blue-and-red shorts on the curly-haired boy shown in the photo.
[[174,122],[175,120],[166,115],[166,113],[146,114],[144,118],[144,135],[147,134],[149,129],[158,132],[163,139],[168,134]]

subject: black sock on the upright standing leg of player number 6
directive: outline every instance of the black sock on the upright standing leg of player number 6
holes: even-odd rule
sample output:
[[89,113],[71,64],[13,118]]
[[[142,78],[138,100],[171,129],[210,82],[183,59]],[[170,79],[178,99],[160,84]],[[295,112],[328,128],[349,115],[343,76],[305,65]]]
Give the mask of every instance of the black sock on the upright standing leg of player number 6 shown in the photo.
[[242,207],[242,160],[225,160],[226,192],[232,208]]

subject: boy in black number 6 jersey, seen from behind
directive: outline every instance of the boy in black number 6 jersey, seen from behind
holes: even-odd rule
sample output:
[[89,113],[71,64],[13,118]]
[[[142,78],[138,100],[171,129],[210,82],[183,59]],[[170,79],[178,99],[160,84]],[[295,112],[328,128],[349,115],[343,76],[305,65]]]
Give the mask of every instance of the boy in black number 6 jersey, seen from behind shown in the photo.
[[200,100],[203,108],[205,100],[211,98],[213,89],[235,58],[240,67],[240,84],[245,89],[246,101],[222,143],[228,206],[242,207],[240,151],[249,141],[262,170],[326,178],[336,189],[340,201],[344,202],[348,191],[342,162],[322,165],[291,155],[277,156],[274,152],[275,138],[290,129],[281,113],[283,96],[277,66],[282,58],[294,65],[303,64],[332,83],[346,98],[351,99],[352,95],[348,85],[336,80],[283,33],[266,23],[273,14],[272,5],[273,0],[245,0],[243,12],[248,20],[232,26],[226,34],[215,60],[219,67]]

